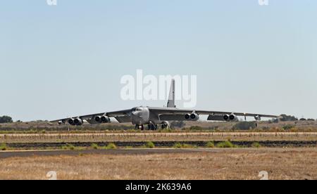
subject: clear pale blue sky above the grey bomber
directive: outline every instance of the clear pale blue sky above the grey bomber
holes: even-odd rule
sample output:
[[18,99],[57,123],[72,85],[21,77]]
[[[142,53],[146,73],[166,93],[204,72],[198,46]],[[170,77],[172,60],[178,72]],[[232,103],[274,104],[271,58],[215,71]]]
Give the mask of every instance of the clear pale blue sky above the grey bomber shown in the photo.
[[317,1],[0,1],[0,115],[163,106],[120,78],[197,75],[197,108],[317,118]]

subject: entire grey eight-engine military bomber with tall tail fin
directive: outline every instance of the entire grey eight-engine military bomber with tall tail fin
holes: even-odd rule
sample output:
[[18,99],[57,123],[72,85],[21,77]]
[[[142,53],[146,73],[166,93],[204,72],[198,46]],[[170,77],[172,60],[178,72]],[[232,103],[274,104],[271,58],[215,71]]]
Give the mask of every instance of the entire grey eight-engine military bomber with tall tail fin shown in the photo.
[[119,110],[115,112],[101,112],[92,115],[83,115],[77,117],[69,117],[65,119],[58,119],[51,122],[58,122],[58,124],[70,124],[73,126],[80,126],[84,122],[89,124],[110,123],[111,117],[115,118],[120,123],[135,124],[135,129],[144,130],[144,125],[148,126],[148,130],[158,129],[158,124],[162,129],[170,127],[171,121],[198,121],[200,115],[208,115],[209,121],[224,121],[237,122],[238,116],[254,117],[256,121],[261,120],[262,117],[279,118],[276,115],[262,115],[251,114],[243,112],[221,112],[208,110],[194,110],[194,109],[178,109],[175,106],[175,80],[173,79],[170,86],[170,94],[166,108],[154,108],[147,106],[139,106],[127,110]]

